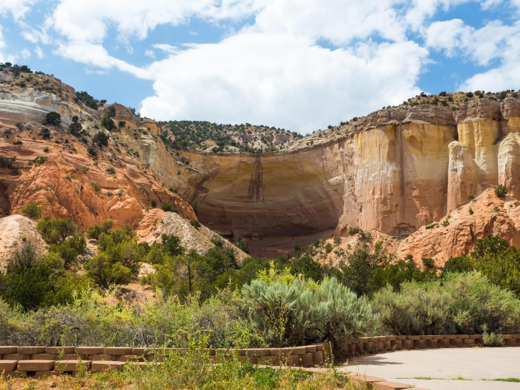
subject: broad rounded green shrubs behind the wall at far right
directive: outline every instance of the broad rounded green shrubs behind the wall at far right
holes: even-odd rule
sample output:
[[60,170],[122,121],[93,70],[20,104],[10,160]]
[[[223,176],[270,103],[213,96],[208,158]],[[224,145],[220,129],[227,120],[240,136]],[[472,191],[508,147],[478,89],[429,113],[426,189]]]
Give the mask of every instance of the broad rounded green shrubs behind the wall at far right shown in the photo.
[[383,330],[394,334],[482,334],[520,330],[520,300],[480,272],[446,274],[442,280],[406,282],[374,294]]

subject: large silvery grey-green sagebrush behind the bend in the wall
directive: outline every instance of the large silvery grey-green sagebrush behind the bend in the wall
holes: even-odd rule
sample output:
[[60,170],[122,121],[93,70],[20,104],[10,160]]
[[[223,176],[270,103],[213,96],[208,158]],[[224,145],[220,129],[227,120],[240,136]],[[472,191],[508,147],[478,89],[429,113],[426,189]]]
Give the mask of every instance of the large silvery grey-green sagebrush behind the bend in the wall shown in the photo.
[[272,346],[306,345],[324,340],[338,347],[348,338],[373,334],[379,315],[335,278],[320,284],[284,273],[242,287],[242,307]]

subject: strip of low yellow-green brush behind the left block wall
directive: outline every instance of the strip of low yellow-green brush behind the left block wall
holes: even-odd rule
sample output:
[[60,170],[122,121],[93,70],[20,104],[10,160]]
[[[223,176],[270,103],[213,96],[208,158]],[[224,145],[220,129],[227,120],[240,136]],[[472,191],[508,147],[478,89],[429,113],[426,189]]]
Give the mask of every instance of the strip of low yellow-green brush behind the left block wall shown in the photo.
[[159,293],[146,303],[107,305],[113,297],[111,292],[81,289],[72,300],[27,313],[5,305],[0,298],[0,344],[266,346],[242,316],[238,293],[229,289],[202,303],[197,297],[180,302],[176,296]]

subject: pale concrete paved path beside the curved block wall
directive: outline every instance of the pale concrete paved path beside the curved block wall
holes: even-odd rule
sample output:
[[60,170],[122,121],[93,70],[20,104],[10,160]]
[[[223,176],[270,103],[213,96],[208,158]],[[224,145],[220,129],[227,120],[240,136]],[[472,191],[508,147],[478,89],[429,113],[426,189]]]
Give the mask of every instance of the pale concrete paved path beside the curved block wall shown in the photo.
[[[402,350],[350,358],[345,366],[340,370],[431,390],[520,390],[520,383],[482,381],[520,378],[520,347]],[[441,380],[404,379],[419,376]],[[472,381],[450,380],[459,377]]]

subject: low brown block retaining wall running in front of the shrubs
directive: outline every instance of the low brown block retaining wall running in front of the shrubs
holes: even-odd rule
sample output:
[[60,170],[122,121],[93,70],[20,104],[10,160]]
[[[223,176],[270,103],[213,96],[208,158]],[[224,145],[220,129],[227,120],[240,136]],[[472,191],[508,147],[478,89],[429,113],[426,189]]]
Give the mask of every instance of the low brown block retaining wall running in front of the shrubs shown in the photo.
[[[520,346],[520,334],[502,335],[506,346]],[[422,336],[376,336],[350,340],[346,346],[333,347],[332,343],[317,343],[292,348],[205,349],[212,361],[237,356],[241,361],[267,366],[317,367],[334,356],[354,356],[399,349],[456,348],[482,343],[480,334],[443,334]],[[131,365],[146,367],[149,362],[158,364],[163,356],[182,349],[132,347],[45,347],[0,346],[0,373],[7,375],[41,376],[49,374],[75,374],[79,364],[87,370],[100,372]]]

